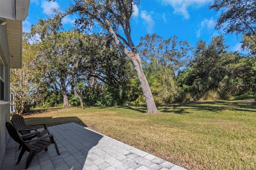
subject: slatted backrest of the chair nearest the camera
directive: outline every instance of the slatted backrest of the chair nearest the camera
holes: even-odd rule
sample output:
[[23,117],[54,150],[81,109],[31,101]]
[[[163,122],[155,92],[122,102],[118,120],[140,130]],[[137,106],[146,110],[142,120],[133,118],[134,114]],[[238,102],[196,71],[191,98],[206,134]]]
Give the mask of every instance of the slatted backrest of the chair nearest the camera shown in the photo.
[[24,149],[29,150],[28,146],[24,143],[24,141],[20,137],[18,129],[16,129],[10,122],[6,122],[5,126],[7,128],[8,133],[13,138],[13,140],[18,142]]

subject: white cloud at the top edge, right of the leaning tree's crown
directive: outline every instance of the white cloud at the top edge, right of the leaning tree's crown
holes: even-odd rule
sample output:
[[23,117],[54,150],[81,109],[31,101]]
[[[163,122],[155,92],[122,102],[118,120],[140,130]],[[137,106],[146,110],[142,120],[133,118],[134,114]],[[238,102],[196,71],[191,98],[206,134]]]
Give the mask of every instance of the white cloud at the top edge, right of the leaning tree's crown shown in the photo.
[[190,15],[188,7],[200,8],[200,6],[206,4],[209,0],[161,0],[164,5],[171,5],[174,9],[174,14],[183,16],[184,19],[189,19]]

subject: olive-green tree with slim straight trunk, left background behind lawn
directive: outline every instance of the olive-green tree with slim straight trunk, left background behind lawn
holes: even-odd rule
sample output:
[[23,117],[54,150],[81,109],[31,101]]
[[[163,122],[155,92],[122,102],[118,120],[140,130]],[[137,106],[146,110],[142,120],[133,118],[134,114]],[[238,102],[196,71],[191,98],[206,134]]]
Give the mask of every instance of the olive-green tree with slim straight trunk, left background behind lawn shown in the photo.
[[44,79],[51,82],[52,89],[62,92],[64,107],[69,105],[67,88],[78,76],[77,67],[82,57],[79,51],[81,36],[75,31],[60,32],[39,43],[38,69],[45,73]]

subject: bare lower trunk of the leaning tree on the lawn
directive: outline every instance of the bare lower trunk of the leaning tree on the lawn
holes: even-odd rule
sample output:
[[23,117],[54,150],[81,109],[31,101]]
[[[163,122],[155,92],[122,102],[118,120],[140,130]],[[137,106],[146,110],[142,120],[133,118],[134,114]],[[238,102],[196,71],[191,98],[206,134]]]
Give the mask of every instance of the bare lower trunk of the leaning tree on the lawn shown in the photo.
[[147,105],[147,113],[159,113],[159,111],[156,108],[156,104],[155,104],[152,92],[150,90],[150,86],[148,85],[148,81],[143,72],[139,54],[136,53],[134,55],[134,53],[132,53],[132,51],[129,51],[128,54],[130,56],[129,57],[130,61],[132,61],[134,69],[138,75],[138,78],[140,81],[140,86],[141,86],[143,94],[145,96],[146,105]]

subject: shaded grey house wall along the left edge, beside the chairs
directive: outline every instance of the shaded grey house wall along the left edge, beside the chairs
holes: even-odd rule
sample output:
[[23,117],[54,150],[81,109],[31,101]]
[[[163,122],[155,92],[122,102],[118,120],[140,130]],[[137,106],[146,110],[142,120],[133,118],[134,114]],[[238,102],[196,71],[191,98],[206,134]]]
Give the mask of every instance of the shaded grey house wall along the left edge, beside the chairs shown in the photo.
[[10,122],[10,61],[7,32],[4,26],[0,26],[0,57],[4,63],[4,101],[0,101],[0,169],[2,169],[10,137],[5,127],[6,121]]

